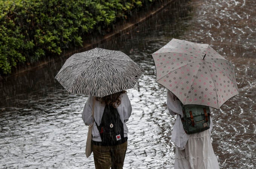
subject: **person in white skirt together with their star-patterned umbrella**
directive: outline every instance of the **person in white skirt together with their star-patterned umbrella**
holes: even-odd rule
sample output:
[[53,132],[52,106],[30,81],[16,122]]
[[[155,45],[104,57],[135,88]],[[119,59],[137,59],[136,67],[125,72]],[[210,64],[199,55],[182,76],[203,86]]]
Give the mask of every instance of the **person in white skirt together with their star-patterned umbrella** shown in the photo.
[[[181,121],[183,119],[184,122],[181,103],[219,109],[227,100],[239,94],[234,66],[209,44],[180,39],[172,39],[154,52],[152,57],[156,82],[168,89],[168,110],[171,115],[177,115],[171,136],[176,144],[174,168],[218,169],[210,139],[212,116],[210,126],[206,123],[206,126],[201,126],[207,127],[207,130],[187,134]],[[192,111],[189,113],[193,120],[190,124],[194,127]],[[206,111],[204,114],[207,117]],[[208,119],[206,122],[209,122]]]

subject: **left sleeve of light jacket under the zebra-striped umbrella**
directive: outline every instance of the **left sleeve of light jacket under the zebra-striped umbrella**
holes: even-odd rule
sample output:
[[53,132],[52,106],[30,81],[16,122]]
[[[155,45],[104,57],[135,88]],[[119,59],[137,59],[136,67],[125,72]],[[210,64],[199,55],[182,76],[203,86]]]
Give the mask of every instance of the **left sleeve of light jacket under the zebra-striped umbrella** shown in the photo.
[[93,96],[89,96],[89,98],[87,99],[84,105],[84,110],[82,112],[82,119],[85,125],[90,125],[93,122],[93,118],[91,114],[92,106],[93,106]]

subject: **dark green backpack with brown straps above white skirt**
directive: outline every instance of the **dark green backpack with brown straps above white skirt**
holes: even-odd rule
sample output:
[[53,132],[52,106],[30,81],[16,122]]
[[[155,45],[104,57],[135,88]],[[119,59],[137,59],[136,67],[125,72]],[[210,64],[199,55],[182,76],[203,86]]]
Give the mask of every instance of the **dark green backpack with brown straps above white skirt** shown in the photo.
[[210,128],[210,108],[203,105],[181,104],[181,122],[187,134],[199,133]]

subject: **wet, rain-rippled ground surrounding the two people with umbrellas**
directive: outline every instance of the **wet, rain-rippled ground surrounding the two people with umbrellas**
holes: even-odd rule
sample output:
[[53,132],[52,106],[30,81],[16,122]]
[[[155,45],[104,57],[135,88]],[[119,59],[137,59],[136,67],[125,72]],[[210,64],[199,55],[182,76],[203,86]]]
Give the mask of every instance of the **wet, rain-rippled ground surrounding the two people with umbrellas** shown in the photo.
[[[173,168],[174,117],[166,89],[155,83],[151,53],[172,38],[205,41],[236,67],[240,95],[214,110],[213,148],[221,168],[254,168],[256,161],[256,11],[253,0],[192,0],[171,4],[125,35],[98,47],[121,50],[145,70],[141,92],[130,89],[133,114],[127,169]],[[0,168],[94,168],[85,157],[86,96],[68,94],[54,77],[65,60],[0,81]]]

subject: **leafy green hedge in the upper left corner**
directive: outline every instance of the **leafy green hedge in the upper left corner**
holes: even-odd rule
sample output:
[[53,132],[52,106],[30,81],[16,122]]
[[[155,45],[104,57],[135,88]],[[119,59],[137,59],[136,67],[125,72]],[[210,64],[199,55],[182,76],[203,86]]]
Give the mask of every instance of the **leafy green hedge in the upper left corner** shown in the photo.
[[0,1],[0,74],[17,63],[60,55],[81,46],[82,37],[111,28],[116,20],[155,0]]

